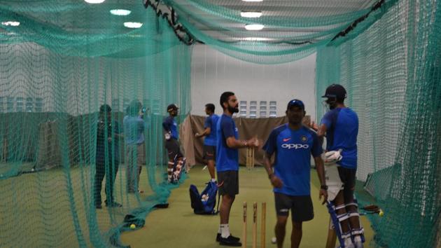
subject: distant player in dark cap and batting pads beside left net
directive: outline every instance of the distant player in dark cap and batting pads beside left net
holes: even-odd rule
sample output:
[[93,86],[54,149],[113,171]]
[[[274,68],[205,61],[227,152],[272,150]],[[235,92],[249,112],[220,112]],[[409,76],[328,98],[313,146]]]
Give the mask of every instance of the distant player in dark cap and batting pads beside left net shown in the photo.
[[[179,144],[179,129],[178,123],[174,117],[178,116],[178,106],[176,104],[169,104],[167,106],[167,112],[169,116],[165,118],[162,122],[162,128],[165,130],[165,149],[167,149],[167,154],[169,156],[168,164],[168,182],[172,182],[172,173],[174,163],[176,161],[177,165],[183,164],[183,154],[181,152],[181,146]],[[176,183],[176,181],[174,181]]]

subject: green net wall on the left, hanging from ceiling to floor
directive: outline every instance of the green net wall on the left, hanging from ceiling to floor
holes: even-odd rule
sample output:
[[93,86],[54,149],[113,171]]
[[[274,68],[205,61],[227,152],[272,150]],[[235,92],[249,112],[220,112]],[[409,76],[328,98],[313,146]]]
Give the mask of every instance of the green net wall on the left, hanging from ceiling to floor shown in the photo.
[[[132,13],[111,15],[114,8]],[[170,103],[180,106],[179,120],[190,111],[191,47],[141,1],[0,1],[0,11],[1,22],[20,22],[0,29],[0,247],[112,247],[126,214],[142,224],[175,187],[162,184],[161,124]],[[128,29],[129,21],[143,26]],[[120,160],[114,197],[123,207],[106,207],[104,179],[95,209],[99,107],[109,104],[104,123],[123,131],[135,99],[148,109],[145,193],[127,193],[133,155],[104,125],[106,156]]]

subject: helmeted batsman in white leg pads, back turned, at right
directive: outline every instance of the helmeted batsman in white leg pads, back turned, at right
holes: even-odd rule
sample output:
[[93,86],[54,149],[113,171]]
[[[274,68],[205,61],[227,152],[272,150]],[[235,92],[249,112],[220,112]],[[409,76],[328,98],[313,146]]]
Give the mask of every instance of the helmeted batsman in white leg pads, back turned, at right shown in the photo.
[[[345,247],[363,247],[361,235],[363,228],[358,219],[358,205],[353,197],[357,169],[357,135],[358,116],[356,112],[344,105],[346,90],[342,85],[332,84],[326,88],[325,102],[330,111],[325,113],[321,125],[316,126],[318,137],[326,137],[326,150],[339,151],[342,158],[336,163],[326,165],[326,176],[331,184],[339,184],[333,204],[341,225],[342,239]],[[335,173],[332,173],[333,170]],[[332,175],[335,175],[335,179]],[[341,187],[343,185],[343,187]],[[330,189],[331,190],[330,186]],[[343,188],[342,190],[340,190]],[[332,199],[330,199],[332,200]],[[348,221],[349,219],[349,221]]]

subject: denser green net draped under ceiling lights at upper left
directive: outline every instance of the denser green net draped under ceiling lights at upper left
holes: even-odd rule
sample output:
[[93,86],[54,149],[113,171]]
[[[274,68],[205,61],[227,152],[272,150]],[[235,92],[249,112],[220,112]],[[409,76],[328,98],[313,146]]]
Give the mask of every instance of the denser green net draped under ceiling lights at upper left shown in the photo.
[[[8,1],[1,5],[1,21],[19,21],[19,27],[2,25],[2,43],[31,41],[55,53],[81,57],[139,57],[158,53],[179,44],[173,32],[146,14],[141,1]],[[112,9],[127,9],[130,15],[111,15]],[[148,21],[147,21],[148,20]],[[141,22],[139,29],[128,29],[124,22]],[[164,22],[164,21],[161,21]],[[146,43],[146,39],[160,42]]]

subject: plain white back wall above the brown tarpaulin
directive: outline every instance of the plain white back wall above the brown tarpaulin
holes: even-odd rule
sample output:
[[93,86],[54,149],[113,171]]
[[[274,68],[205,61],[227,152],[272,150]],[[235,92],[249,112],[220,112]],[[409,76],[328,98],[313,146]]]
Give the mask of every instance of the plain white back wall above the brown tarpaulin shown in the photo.
[[[253,64],[237,60],[205,45],[196,45],[192,57],[192,114],[204,115],[211,102],[221,113],[222,92],[235,92],[239,101],[277,101],[284,116],[290,99],[301,99],[307,114],[315,116],[316,55],[285,64]],[[259,116],[259,115],[258,115]]]

